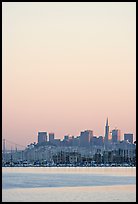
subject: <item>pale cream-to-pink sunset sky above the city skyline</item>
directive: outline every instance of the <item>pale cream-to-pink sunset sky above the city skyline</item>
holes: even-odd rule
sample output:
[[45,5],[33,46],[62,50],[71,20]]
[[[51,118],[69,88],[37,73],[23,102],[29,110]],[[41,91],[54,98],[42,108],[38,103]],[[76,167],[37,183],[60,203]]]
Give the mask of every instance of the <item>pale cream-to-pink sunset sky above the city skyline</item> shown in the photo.
[[136,137],[136,2],[2,2],[2,137],[37,142],[106,118]]

